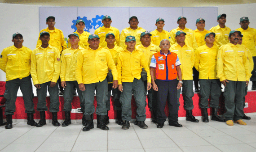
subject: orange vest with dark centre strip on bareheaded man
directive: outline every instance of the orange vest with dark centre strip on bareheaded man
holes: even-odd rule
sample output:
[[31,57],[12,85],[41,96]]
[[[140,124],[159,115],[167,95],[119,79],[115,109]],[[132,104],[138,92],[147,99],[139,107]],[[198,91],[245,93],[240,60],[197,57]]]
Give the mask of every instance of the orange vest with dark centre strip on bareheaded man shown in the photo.
[[174,80],[177,78],[177,69],[175,66],[177,59],[176,53],[169,52],[165,56],[162,52],[158,52],[154,54],[154,58],[156,60],[156,79]]

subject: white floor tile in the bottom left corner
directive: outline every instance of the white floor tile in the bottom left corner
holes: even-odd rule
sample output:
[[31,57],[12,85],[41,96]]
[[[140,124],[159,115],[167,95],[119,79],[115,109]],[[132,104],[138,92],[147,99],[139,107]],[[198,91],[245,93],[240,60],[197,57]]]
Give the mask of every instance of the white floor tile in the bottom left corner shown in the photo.
[[35,152],[41,143],[9,144],[1,152]]

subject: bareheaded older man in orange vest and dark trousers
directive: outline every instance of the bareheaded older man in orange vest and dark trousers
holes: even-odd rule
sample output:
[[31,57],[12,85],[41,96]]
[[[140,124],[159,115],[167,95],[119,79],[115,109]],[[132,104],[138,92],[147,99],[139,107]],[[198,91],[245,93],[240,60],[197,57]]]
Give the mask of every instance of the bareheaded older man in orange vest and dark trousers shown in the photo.
[[[164,108],[168,99],[169,108],[169,125],[174,127],[182,127],[178,123],[178,108],[177,108],[177,89],[181,89],[181,62],[176,53],[169,51],[170,42],[168,39],[163,39],[160,42],[161,51],[155,53],[151,58],[150,76],[152,88],[157,91],[157,128],[163,128],[166,121]],[[156,80],[154,81],[154,70]],[[177,76],[179,82],[177,82]]]

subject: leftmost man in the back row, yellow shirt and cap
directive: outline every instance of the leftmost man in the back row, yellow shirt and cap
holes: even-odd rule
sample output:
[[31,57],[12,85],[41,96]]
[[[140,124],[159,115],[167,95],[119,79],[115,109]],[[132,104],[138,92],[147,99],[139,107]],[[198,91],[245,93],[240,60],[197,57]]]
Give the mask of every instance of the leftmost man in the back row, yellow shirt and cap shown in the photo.
[[[67,48],[67,45],[66,45],[66,41],[64,39],[62,30],[56,29],[54,27],[55,17],[51,17],[51,16],[47,17],[46,24],[48,25],[48,27],[46,29],[41,30],[40,33],[42,33],[43,31],[48,32],[50,34],[49,44],[53,47],[56,47],[59,50],[60,54],[62,54],[62,50],[65,50]],[[40,40],[40,35],[39,35],[36,47],[40,47],[41,44],[42,42]],[[63,95],[63,88],[61,86],[60,78],[58,80],[58,85],[60,89],[60,95]]]

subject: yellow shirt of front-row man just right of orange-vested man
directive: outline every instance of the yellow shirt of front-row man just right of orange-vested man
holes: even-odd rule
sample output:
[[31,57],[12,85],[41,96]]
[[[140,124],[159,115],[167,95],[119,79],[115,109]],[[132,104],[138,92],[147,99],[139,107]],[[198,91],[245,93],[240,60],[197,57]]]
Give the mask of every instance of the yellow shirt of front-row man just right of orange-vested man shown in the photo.
[[[176,53],[181,62],[181,74],[182,80],[193,80],[193,70],[194,67],[194,50],[191,46],[180,46],[175,42],[169,49],[171,52]],[[178,79],[178,77],[177,77]]]

